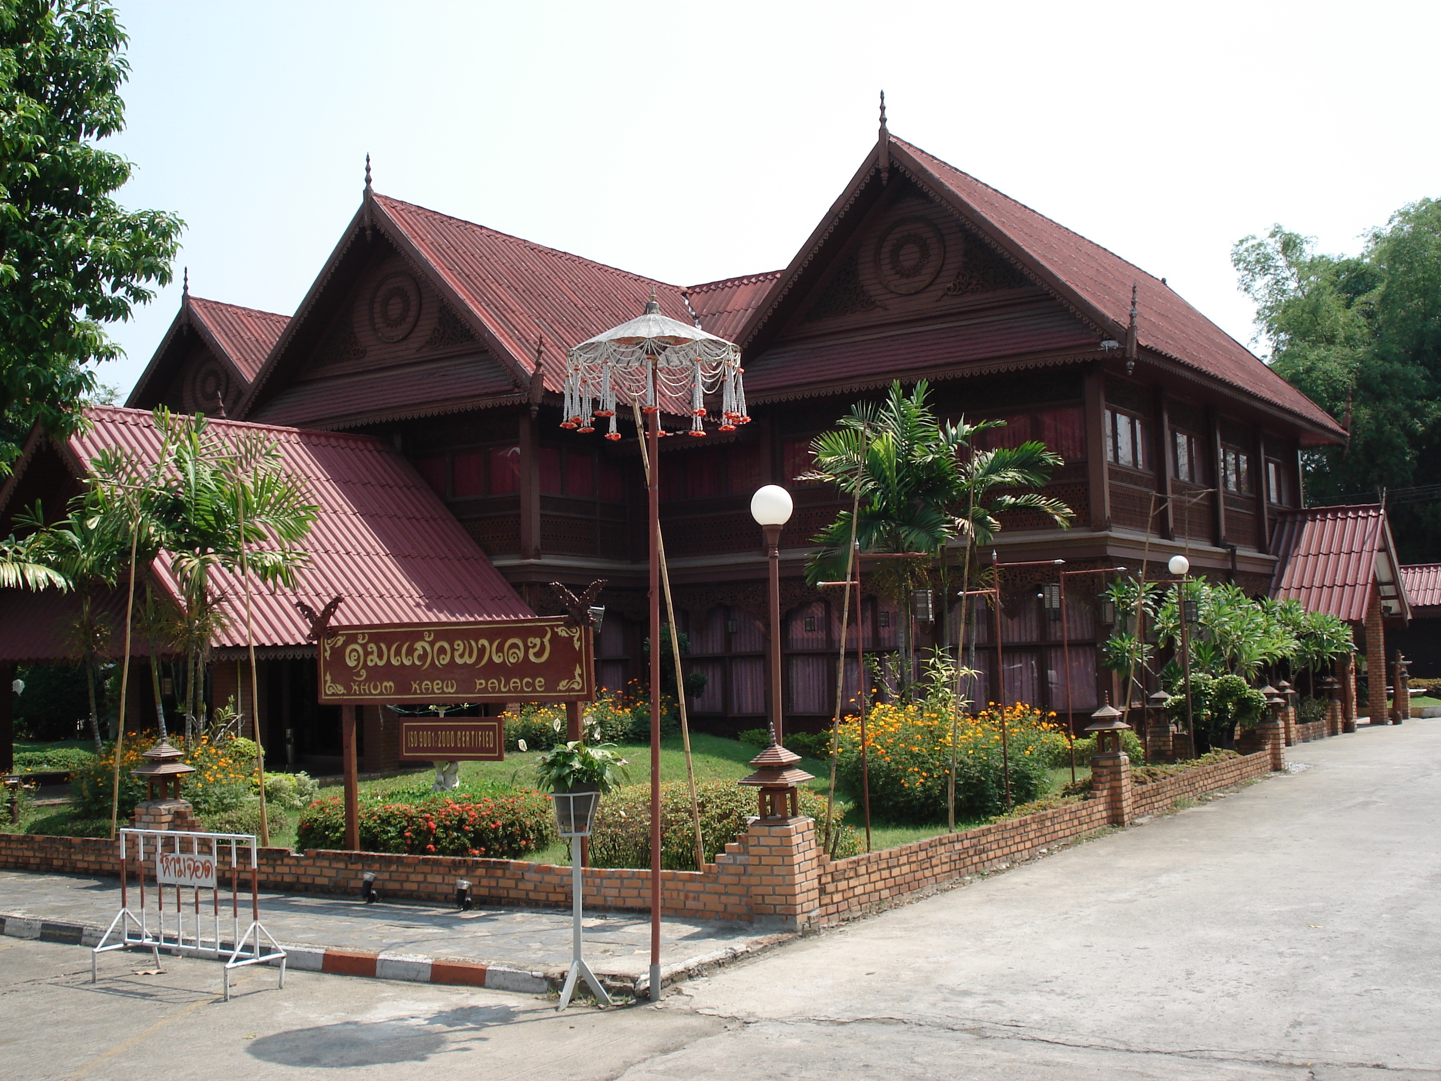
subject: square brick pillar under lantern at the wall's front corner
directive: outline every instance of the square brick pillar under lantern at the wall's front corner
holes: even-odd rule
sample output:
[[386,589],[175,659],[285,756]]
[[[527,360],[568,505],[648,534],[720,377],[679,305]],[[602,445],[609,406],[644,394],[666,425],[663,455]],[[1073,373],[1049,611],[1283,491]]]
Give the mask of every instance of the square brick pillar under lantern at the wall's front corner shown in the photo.
[[757,925],[798,931],[820,908],[820,849],[811,819],[757,819],[742,837],[745,859],[726,846],[716,863],[744,865]]

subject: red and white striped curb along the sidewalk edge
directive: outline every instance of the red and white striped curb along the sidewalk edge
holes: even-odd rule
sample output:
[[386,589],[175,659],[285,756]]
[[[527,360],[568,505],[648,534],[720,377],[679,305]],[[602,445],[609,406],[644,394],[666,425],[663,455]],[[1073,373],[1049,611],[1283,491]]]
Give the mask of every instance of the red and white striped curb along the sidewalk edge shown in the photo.
[[[37,938],[46,943],[95,947],[99,944],[104,928],[59,920],[0,915],[0,934],[10,938]],[[288,967],[301,971],[323,971],[331,976],[369,976],[409,983],[451,983],[484,987],[486,990],[520,992],[522,995],[545,995],[550,990],[552,983],[543,971],[517,969],[509,964],[486,964],[460,957],[339,950],[324,946],[284,946],[282,948]],[[271,964],[278,964],[278,961],[271,961]]]

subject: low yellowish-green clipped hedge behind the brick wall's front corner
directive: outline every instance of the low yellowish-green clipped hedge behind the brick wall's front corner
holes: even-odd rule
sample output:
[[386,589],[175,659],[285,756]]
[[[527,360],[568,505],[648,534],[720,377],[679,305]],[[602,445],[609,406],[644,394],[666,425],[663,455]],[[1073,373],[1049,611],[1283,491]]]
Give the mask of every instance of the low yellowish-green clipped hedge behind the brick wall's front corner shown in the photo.
[[[748,819],[758,810],[755,790],[735,781],[699,781],[696,803],[700,806],[702,853],[708,863],[716,853],[745,832]],[[824,820],[826,801],[807,788],[800,793],[800,811]],[[846,806],[837,803],[837,820]],[[856,832],[837,824],[837,859],[860,850]],[[591,862],[599,868],[650,866],[650,786],[628,784],[601,798],[591,833]],[[690,816],[690,788],[684,781],[660,786],[660,865],[666,871],[696,869],[696,832]]]

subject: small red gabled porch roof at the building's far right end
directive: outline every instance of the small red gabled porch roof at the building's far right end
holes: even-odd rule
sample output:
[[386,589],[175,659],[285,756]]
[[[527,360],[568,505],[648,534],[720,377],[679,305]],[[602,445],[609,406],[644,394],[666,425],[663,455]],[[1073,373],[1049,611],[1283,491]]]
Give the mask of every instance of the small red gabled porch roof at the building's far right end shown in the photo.
[[1396,545],[1379,503],[1284,510],[1277,515],[1272,548],[1272,597],[1363,623],[1379,588],[1385,614],[1411,618]]

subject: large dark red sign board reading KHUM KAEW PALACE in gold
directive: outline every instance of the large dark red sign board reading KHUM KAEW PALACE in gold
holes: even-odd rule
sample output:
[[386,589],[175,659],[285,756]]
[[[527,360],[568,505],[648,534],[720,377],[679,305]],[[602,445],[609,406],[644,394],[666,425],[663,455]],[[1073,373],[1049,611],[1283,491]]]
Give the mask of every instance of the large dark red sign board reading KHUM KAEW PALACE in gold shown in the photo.
[[589,628],[563,617],[336,627],[317,650],[320,700],[589,702],[591,651]]

